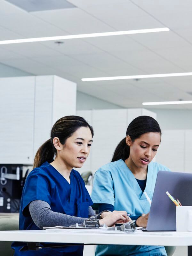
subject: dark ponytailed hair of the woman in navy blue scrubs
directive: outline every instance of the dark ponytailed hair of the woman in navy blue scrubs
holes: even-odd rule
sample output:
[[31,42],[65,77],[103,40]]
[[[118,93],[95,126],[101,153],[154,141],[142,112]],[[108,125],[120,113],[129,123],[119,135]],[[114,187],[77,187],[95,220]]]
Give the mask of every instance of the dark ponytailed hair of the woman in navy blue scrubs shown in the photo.
[[60,143],[65,144],[65,141],[80,127],[88,127],[93,137],[92,126],[81,116],[64,116],[57,120],[51,130],[51,139],[47,140],[37,150],[33,168],[41,166],[46,161],[48,163],[53,161],[54,155],[57,154],[57,150],[53,145],[54,137],[58,137]]

